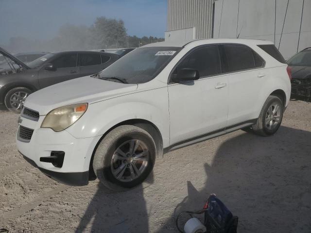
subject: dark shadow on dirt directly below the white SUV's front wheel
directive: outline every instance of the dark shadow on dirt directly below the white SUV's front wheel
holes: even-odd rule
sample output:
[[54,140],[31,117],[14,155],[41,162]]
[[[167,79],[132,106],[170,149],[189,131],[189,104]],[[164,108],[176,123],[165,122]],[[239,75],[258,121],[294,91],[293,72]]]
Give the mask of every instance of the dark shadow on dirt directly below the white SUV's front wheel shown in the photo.
[[148,213],[143,189],[153,182],[153,172],[143,184],[126,192],[111,191],[99,182],[96,194],[75,233],[85,232],[86,228],[87,232],[94,233],[148,232]]

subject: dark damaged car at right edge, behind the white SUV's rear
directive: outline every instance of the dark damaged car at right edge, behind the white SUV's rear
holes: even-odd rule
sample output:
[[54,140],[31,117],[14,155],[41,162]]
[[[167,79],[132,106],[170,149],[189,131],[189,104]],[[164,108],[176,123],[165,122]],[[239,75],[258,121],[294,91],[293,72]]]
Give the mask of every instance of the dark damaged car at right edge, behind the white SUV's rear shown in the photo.
[[292,68],[292,98],[311,100],[311,47],[287,61]]

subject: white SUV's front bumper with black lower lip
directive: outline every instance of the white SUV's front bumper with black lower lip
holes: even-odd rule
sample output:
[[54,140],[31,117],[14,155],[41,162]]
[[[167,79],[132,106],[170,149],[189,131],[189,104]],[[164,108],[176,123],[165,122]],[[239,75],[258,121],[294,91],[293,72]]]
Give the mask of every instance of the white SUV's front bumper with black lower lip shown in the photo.
[[[53,180],[69,185],[86,185],[91,156],[100,136],[75,138],[66,130],[54,132],[52,129],[40,128],[43,118],[40,116],[38,121],[34,121],[20,117],[16,140],[18,151]],[[30,140],[25,141],[19,137],[21,126],[34,130]],[[40,161],[42,157],[51,156],[52,151],[65,152],[61,167]]]

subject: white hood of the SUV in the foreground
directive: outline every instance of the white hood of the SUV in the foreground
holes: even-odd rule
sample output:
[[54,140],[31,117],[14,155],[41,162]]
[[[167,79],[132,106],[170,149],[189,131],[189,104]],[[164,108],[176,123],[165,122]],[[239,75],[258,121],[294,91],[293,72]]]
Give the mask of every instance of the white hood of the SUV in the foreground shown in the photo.
[[124,84],[92,78],[69,80],[43,88],[31,94],[24,106],[47,115],[55,108],[75,104],[94,103],[134,92],[138,84]]

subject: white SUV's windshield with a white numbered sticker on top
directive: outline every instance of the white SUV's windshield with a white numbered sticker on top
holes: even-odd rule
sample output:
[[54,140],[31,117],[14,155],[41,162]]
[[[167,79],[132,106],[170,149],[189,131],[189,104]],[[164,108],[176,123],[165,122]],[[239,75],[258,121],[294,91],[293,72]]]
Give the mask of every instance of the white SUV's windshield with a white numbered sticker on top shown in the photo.
[[131,84],[149,82],[179,50],[179,47],[146,47],[133,50],[100,72],[99,78]]

